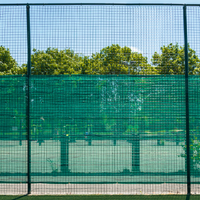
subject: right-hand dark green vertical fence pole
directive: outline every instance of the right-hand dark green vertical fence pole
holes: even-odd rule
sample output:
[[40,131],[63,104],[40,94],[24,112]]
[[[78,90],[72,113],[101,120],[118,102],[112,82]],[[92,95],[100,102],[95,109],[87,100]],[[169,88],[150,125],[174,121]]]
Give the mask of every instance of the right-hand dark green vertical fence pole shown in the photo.
[[187,41],[187,12],[183,6],[184,44],[185,44],[185,100],[186,100],[186,160],[187,160],[187,194],[191,193],[190,182],[190,129],[189,129],[189,95],[188,95],[188,41]]

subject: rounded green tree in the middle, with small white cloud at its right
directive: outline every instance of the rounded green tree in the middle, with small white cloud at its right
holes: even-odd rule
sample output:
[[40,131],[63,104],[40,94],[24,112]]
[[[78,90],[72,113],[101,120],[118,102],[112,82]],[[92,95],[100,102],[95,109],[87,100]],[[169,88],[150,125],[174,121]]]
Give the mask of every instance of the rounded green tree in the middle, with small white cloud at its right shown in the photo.
[[139,74],[150,65],[141,53],[113,44],[92,54],[91,67],[94,74],[128,74],[129,69],[130,74]]

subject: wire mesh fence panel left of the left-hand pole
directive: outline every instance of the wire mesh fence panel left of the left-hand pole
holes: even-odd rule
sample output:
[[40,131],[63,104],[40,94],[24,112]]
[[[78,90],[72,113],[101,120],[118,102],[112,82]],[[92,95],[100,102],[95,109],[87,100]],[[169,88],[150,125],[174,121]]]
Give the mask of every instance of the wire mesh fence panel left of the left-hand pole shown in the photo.
[[12,75],[26,62],[26,9],[0,6],[1,194],[27,192],[26,77]]

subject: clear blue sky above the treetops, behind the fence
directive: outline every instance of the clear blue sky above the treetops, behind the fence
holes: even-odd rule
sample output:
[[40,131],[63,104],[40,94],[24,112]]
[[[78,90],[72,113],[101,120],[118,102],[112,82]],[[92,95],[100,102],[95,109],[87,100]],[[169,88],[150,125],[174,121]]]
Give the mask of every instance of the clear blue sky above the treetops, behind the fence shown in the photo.
[[[6,3],[54,3],[7,0]],[[92,1],[82,1],[88,3]],[[101,1],[101,3],[120,1]],[[124,3],[131,1],[126,0]],[[140,3],[150,3],[140,1]],[[151,3],[160,1],[151,1]],[[166,3],[171,3],[166,1]],[[0,3],[5,3],[1,1]],[[56,3],[72,3],[57,0]],[[74,0],[73,3],[80,3]],[[97,3],[97,2],[96,2]],[[164,2],[162,2],[164,3]],[[183,3],[175,0],[173,3]],[[185,1],[184,3],[199,3]],[[188,7],[188,42],[200,57],[200,7]],[[182,6],[32,6],[31,49],[72,49],[91,56],[112,44],[130,47],[151,61],[154,52],[169,43],[183,46]],[[19,65],[27,62],[25,6],[0,6],[0,45],[9,48]],[[33,52],[32,52],[33,53]]]

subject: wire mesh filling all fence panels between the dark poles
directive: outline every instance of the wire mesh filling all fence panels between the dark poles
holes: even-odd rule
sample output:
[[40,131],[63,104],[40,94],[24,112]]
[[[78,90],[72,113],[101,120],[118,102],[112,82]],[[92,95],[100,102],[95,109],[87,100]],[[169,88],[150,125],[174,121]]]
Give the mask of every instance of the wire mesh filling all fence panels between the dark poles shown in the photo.
[[[187,7],[192,193],[198,14]],[[28,117],[33,194],[187,193],[183,6],[30,6],[30,78],[26,20],[0,7],[0,193],[27,192]]]

